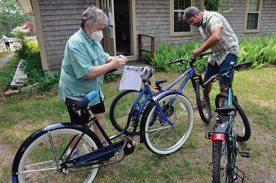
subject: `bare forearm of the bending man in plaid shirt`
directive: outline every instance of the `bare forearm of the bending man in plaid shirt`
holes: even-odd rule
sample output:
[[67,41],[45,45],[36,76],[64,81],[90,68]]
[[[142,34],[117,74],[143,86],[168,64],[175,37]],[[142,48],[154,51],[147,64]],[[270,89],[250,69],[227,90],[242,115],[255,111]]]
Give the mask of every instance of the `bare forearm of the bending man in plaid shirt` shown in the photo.
[[212,35],[204,42],[204,44],[197,50],[193,50],[193,55],[198,57],[203,52],[215,46],[221,39],[221,26],[215,26],[212,30]]

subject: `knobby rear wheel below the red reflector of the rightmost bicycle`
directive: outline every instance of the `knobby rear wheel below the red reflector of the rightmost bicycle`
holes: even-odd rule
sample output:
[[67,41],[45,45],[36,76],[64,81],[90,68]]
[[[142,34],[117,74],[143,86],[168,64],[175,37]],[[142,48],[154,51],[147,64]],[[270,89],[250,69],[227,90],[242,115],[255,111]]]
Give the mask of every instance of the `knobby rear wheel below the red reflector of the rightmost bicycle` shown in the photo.
[[231,182],[231,152],[226,142],[213,142],[213,183]]

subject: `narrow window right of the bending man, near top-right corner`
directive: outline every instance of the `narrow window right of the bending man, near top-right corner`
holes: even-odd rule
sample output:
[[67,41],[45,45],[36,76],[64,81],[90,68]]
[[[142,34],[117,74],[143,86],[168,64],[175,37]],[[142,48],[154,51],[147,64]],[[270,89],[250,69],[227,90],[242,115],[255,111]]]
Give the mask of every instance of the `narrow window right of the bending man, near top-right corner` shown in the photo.
[[246,1],[246,21],[244,32],[259,32],[262,11],[262,0]]

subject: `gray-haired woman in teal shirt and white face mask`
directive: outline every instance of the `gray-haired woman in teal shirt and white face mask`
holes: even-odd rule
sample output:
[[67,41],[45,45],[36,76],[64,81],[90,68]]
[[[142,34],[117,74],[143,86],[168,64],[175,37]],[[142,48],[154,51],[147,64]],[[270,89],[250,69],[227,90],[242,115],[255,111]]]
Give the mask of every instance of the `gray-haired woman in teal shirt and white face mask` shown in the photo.
[[[123,55],[111,57],[99,41],[103,39],[103,25],[108,23],[108,17],[103,10],[91,6],[81,15],[81,28],[70,37],[64,50],[64,58],[61,65],[59,80],[59,97],[63,100],[68,95],[79,95],[95,90],[99,95],[88,104],[92,113],[104,128],[105,106],[103,104],[103,75],[109,70],[123,67],[128,61]],[[88,123],[88,113],[81,111],[81,116],[68,107],[70,121],[73,123]],[[106,140],[99,132],[97,126],[93,126],[96,135],[103,145]]]

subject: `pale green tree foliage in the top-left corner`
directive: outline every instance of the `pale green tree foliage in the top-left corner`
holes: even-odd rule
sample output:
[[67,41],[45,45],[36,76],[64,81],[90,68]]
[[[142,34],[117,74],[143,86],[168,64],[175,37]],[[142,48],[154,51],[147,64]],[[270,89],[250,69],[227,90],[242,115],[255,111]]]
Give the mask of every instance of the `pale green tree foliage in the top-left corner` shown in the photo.
[[12,29],[27,20],[32,20],[32,17],[23,12],[16,0],[0,0],[0,35],[10,37]]

